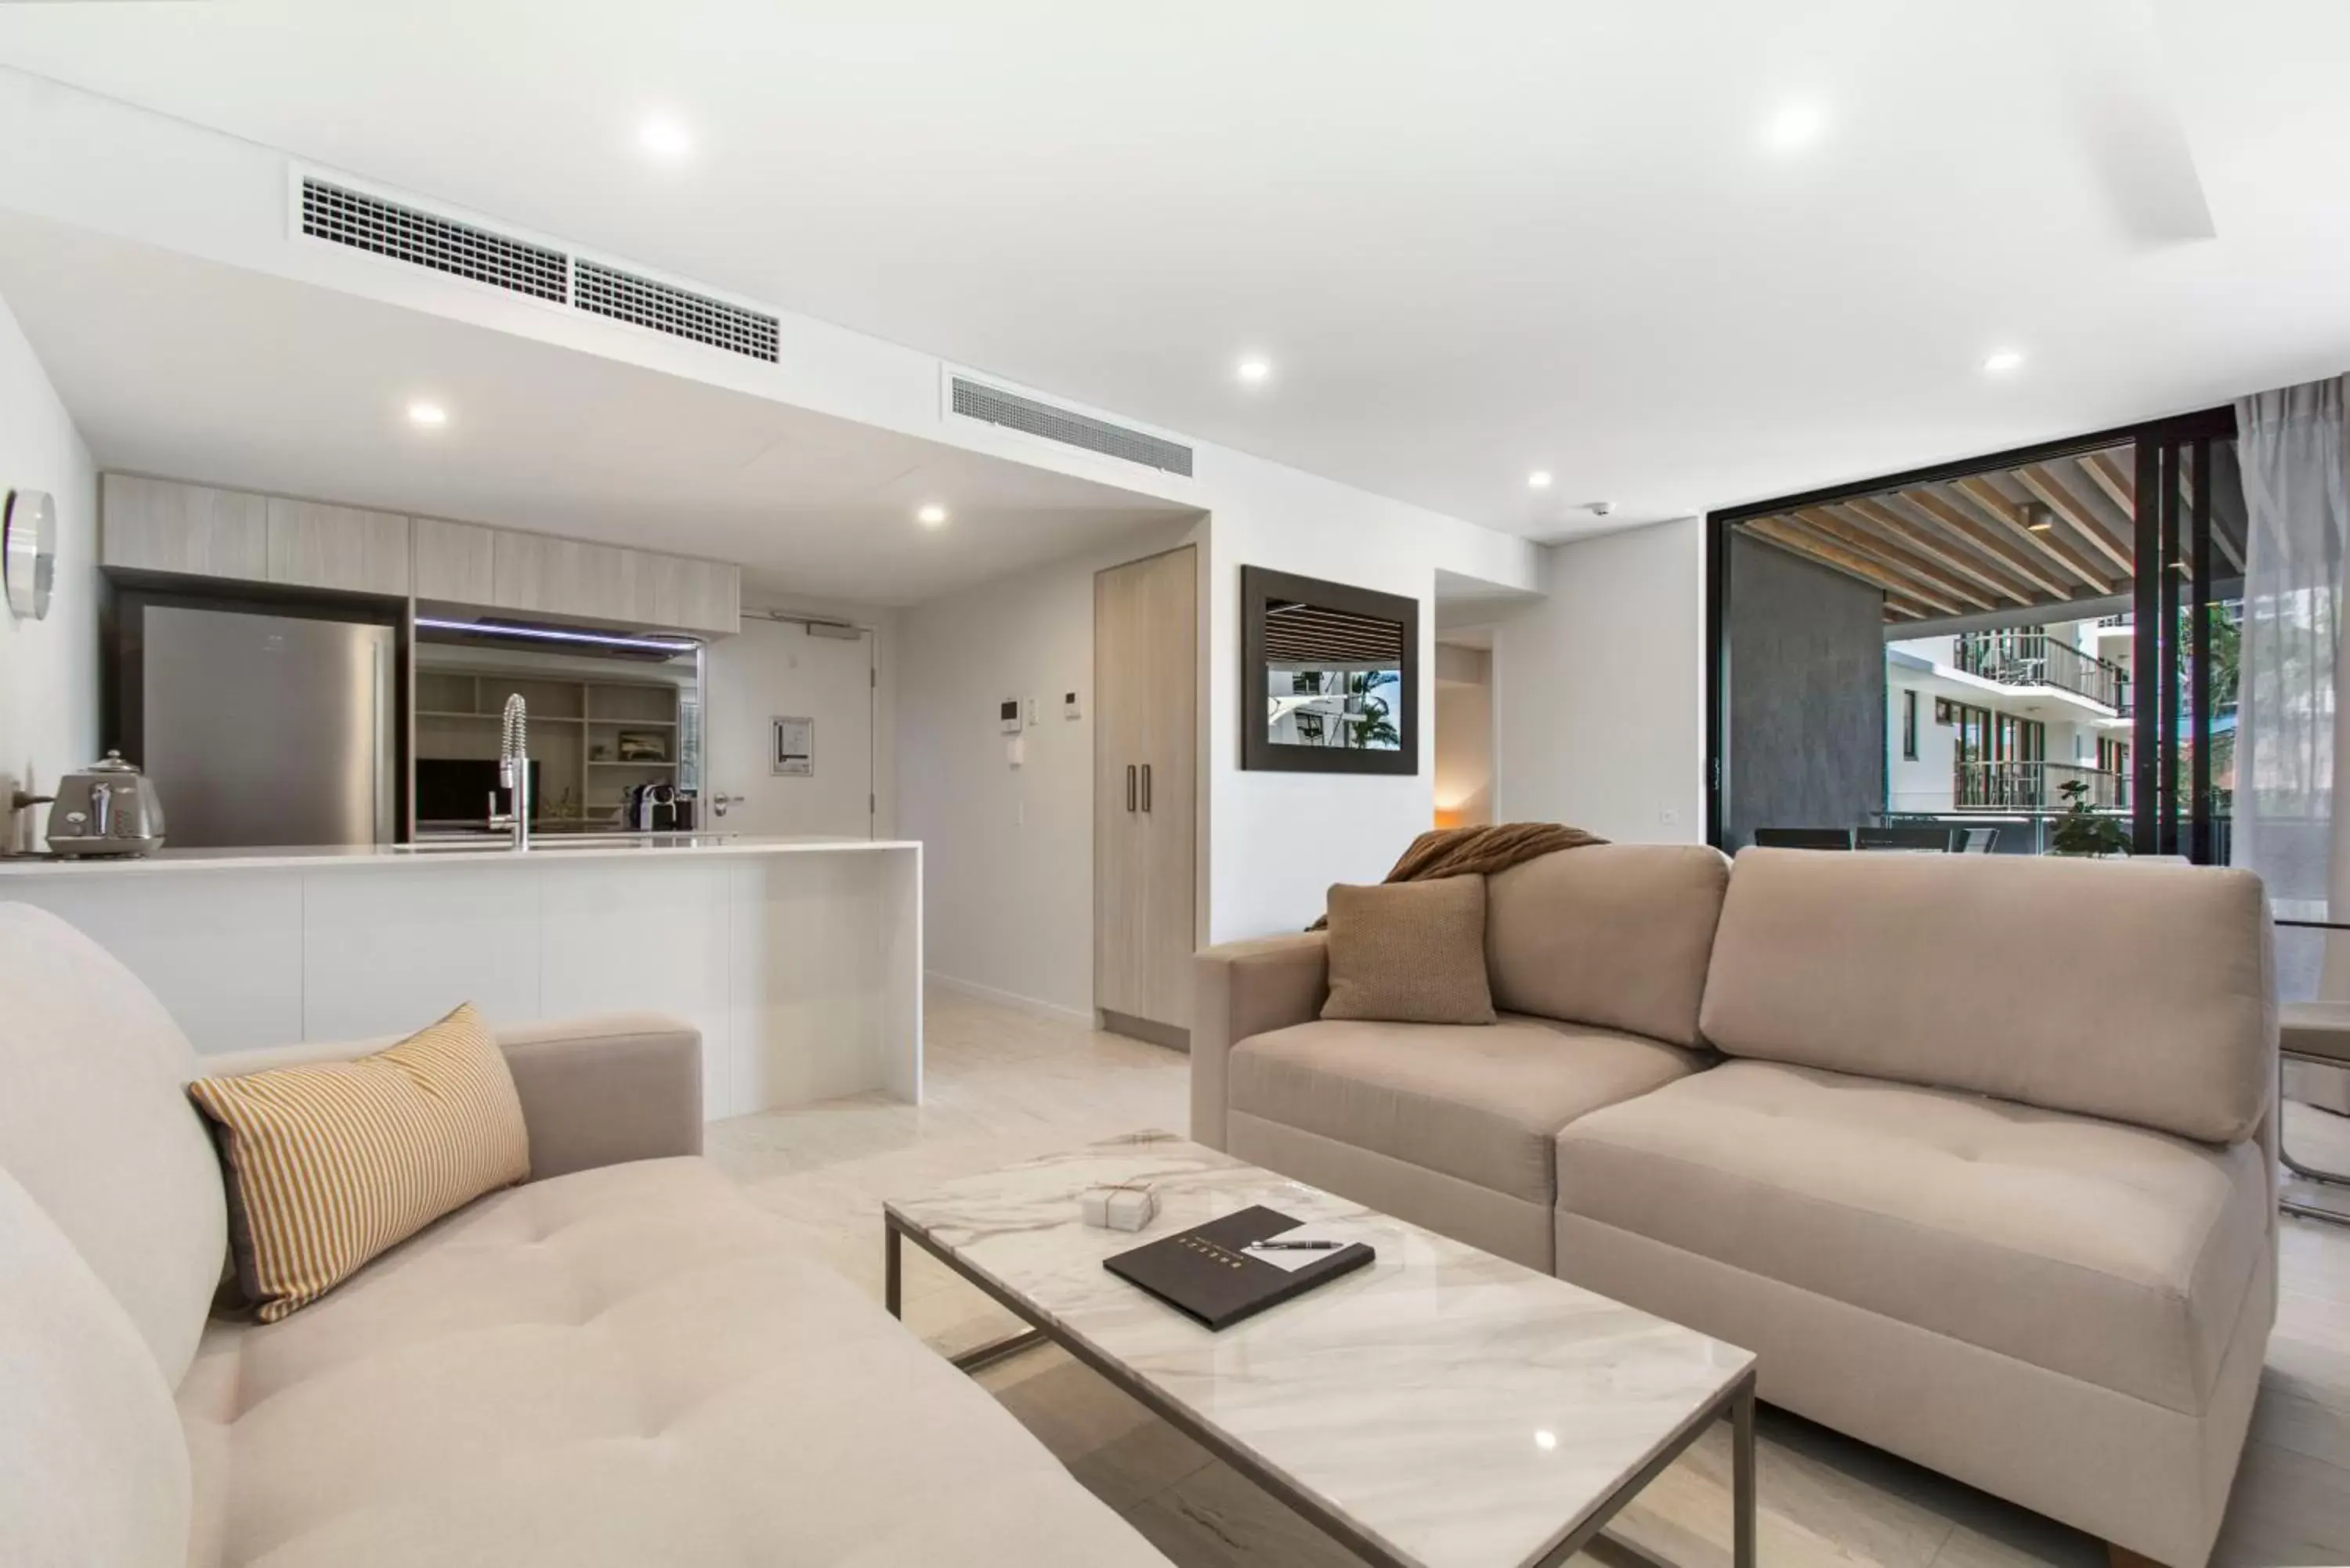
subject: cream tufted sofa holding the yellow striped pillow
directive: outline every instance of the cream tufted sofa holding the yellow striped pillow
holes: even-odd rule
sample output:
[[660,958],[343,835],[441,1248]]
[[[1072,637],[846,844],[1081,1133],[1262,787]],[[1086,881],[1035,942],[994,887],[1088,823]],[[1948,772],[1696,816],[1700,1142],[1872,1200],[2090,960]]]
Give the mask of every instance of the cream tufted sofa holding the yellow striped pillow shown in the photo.
[[1166,1568],[698,1159],[691,1030],[501,1044],[529,1185],[284,1324],[209,1319],[195,1053],[94,943],[0,905],[0,1563]]

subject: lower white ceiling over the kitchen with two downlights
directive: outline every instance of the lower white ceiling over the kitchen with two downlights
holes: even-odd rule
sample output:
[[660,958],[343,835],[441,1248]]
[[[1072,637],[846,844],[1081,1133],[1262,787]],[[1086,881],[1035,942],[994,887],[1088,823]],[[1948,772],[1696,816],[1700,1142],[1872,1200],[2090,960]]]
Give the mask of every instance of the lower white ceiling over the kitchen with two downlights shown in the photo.
[[[0,214],[0,299],[101,468],[740,562],[912,604],[1187,515],[1107,484]],[[418,430],[409,400],[449,423]],[[945,503],[945,529],[914,512]]]

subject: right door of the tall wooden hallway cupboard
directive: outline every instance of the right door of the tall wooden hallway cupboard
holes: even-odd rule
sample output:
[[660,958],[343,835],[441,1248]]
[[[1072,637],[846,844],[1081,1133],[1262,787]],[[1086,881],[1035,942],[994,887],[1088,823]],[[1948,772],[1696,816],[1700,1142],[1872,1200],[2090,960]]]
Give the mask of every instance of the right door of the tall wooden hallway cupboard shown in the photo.
[[1191,548],[1149,562],[1140,623],[1144,661],[1140,752],[1149,769],[1142,813],[1142,1016],[1191,1027],[1191,954],[1196,950],[1196,792],[1198,792],[1198,557]]

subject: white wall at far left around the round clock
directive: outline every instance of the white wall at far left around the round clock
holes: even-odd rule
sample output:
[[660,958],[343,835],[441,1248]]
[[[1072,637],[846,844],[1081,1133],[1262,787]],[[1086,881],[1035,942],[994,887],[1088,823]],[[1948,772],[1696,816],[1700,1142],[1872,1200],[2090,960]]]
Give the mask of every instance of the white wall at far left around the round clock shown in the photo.
[[[0,301],[0,489],[56,498],[56,592],[47,621],[0,609],[0,809],[47,792],[99,755],[99,482],[89,449]],[[40,832],[42,811],[24,830]],[[0,832],[7,823],[0,823]],[[16,844],[31,849],[31,842]]]

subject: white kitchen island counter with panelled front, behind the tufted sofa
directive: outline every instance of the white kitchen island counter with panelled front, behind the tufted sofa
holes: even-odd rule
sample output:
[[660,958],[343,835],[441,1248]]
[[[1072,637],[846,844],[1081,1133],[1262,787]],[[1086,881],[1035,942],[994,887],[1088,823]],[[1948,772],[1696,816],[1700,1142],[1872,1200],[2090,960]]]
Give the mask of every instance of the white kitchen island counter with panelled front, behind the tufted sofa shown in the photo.
[[651,1011],[703,1032],[703,1110],[921,1098],[921,844],[646,835],[0,860],[200,1053]]

